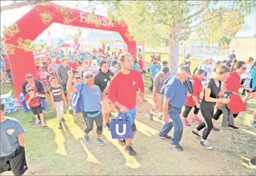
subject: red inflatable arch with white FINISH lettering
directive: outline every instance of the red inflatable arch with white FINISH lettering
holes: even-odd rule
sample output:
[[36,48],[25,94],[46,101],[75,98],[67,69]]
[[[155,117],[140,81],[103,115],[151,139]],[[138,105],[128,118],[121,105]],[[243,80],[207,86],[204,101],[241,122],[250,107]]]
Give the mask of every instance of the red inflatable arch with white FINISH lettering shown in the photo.
[[[64,8],[65,13],[67,13],[68,11],[72,13],[69,17],[67,17],[67,15],[62,14],[62,12],[59,11],[59,8]],[[44,24],[40,13],[50,13],[52,15],[51,22],[48,24]],[[76,9],[70,9],[64,6],[59,6],[57,4],[50,3],[50,5],[47,6],[39,4],[15,22],[19,27],[19,32],[15,34],[15,36],[12,38],[10,38],[9,36],[4,36],[6,40],[5,43],[17,46],[17,39],[20,37],[22,39],[30,39],[33,41],[52,23],[59,23],[119,32],[119,34],[127,44],[127,52],[136,53],[136,41],[133,40],[133,37],[129,35],[128,26],[124,22],[118,23],[117,21],[115,21],[113,24],[111,24],[111,22],[104,16],[94,15],[94,18],[97,18],[98,21],[101,22],[100,26],[96,26],[93,23],[90,23],[88,21],[86,22],[88,14],[89,13],[82,12]],[[65,23],[64,16],[65,18],[74,20],[70,20],[68,21],[68,23]],[[33,52],[26,52],[23,49],[15,48],[15,53],[8,54],[8,57],[13,75],[14,89],[16,92],[16,96],[19,97],[20,93],[22,92],[21,86],[26,81],[26,74],[31,73],[34,77],[36,77]],[[134,59],[136,59],[135,54],[133,55],[133,57]]]

